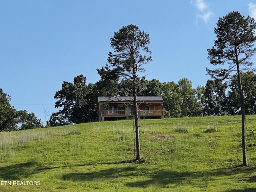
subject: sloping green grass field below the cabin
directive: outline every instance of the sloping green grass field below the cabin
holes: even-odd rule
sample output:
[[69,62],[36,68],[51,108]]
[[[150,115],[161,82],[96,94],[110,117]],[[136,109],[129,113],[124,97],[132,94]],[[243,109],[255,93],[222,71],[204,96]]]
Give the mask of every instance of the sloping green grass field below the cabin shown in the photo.
[[0,191],[255,192],[256,116],[246,122],[250,166],[237,168],[240,116],[140,120],[141,164],[120,163],[135,158],[132,120],[0,132]]

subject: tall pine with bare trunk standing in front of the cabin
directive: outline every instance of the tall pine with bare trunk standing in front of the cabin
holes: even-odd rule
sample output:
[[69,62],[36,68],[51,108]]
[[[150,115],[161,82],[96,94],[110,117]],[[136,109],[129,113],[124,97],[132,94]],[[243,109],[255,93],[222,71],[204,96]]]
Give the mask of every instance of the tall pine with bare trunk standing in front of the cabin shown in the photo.
[[138,78],[139,73],[145,71],[145,68],[142,66],[152,60],[152,52],[148,48],[149,43],[149,35],[141,31],[138,26],[132,24],[123,26],[118,32],[114,32],[114,36],[110,38],[110,46],[114,52],[108,52],[109,65],[106,64],[101,71],[102,74],[105,72],[109,74],[110,78],[106,78],[106,80],[116,80],[116,77],[118,77],[118,79],[129,79],[132,81],[131,92],[136,134],[136,160],[138,161],[141,161],[137,104]]

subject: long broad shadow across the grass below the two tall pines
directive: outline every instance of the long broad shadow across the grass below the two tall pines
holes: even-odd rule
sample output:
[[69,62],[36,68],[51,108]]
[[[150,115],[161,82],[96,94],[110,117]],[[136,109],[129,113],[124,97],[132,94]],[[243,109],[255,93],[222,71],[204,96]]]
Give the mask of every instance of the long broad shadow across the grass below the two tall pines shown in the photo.
[[[207,182],[213,181],[217,179],[217,177],[219,179],[219,177],[221,176],[231,176],[232,174],[241,173],[248,175],[248,173],[252,172],[255,172],[255,168],[244,167],[236,168],[235,170],[230,170],[228,168],[218,168],[205,172],[176,172],[169,170],[152,170],[150,168],[138,166],[129,166],[121,168],[104,169],[96,172],[62,174],[59,175],[58,178],[62,180],[72,181],[91,181],[102,179],[108,180],[121,177],[140,177],[140,179],[143,178],[142,181],[127,182],[126,186],[134,188],[146,188],[150,185],[155,185],[162,188],[169,188],[169,184],[180,186],[184,184],[184,182],[187,184],[193,184],[193,182],[195,182],[197,187],[204,188],[207,186]],[[254,180],[254,178],[252,178],[251,180]],[[248,178],[247,182],[252,181],[250,181],[250,178]],[[250,192],[250,189],[248,190]],[[244,190],[244,192],[246,192],[246,190]]]

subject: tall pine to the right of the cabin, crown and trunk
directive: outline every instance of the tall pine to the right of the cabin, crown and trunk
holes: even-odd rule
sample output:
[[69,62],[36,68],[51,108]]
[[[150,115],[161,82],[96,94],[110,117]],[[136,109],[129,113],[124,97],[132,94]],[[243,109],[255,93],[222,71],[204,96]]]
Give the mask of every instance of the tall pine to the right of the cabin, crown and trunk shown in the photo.
[[214,29],[217,39],[214,41],[214,46],[208,49],[208,59],[214,66],[222,65],[222,68],[214,70],[206,68],[207,73],[212,78],[230,80],[232,75],[237,76],[242,115],[243,165],[247,165],[248,162],[246,156],[244,85],[242,84],[241,72],[242,70],[252,69],[250,58],[256,52],[256,49],[253,48],[253,43],[256,40],[255,27],[254,18],[250,16],[245,18],[237,11],[219,18],[217,28]]

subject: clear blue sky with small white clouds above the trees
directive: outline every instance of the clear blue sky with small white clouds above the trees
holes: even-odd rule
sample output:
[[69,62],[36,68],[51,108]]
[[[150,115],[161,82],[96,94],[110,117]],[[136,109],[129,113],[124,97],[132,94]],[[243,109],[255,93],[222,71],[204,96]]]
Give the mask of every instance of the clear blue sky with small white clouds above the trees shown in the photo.
[[[146,79],[205,85],[212,68],[207,49],[214,44],[220,17],[238,11],[256,18],[255,0],[0,0],[0,88],[17,110],[34,112],[45,123],[62,82],[83,74],[100,79],[110,37],[137,25],[150,35],[152,59]],[[256,58],[252,58],[256,62]]]

